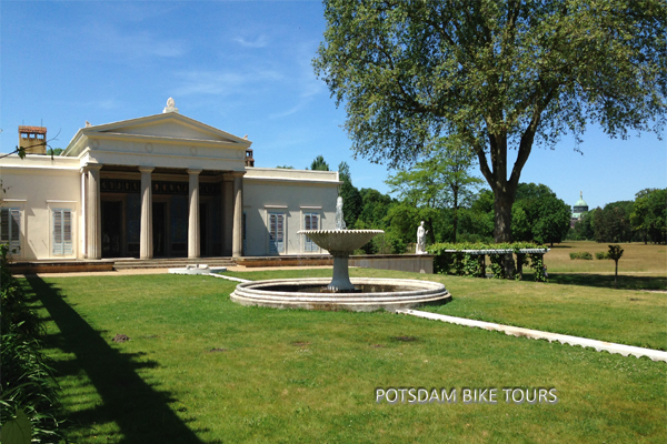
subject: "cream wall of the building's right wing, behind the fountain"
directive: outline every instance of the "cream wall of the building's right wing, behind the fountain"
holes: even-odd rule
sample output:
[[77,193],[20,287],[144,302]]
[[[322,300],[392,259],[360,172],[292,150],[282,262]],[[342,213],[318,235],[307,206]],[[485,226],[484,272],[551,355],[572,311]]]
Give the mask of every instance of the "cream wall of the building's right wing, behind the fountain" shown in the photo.
[[[319,215],[320,230],[336,228],[336,198],[338,173],[248,169],[243,178],[243,212],[246,213],[246,251],[248,256],[271,255],[269,244],[269,213],[285,214],[285,250],[279,254],[321,254],[317,248],[305,251],[303,230],[306,213]],[[315,178],[319,182],[315,181]],[[276,253],[273,253],[276,254]]]

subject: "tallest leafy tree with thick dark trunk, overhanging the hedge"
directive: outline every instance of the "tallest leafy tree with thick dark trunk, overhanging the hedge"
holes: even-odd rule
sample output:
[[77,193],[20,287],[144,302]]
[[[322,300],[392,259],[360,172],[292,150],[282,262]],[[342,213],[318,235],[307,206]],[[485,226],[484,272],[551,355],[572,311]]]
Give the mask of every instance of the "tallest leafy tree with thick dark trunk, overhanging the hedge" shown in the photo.
[[[356,153],[411,163],[442,134],[470,143],[495,195],[495,239],[536,143],[661,131],[663,0],[326,0],[315,63]],[[517,150],[514,165],[508,149]]]

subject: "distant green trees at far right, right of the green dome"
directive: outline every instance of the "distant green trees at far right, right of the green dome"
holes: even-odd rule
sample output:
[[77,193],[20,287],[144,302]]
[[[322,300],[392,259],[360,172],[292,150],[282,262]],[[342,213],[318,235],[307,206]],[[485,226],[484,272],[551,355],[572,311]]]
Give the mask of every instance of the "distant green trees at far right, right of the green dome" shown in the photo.
[[667,241],[667,189],[646,189],[635,201],[618,201],[585,213],[569,235],[596,242]]

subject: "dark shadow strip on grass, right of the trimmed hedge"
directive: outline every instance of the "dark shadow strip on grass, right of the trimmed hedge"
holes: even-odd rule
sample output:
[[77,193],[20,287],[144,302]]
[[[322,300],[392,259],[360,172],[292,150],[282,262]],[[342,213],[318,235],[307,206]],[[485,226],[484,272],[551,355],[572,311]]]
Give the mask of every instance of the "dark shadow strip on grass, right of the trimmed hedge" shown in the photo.
[[[524,274],[525,281],[532,281],[531,274]],[[565,285],[616,289],[614,274],[593,273],[549,273],[549,282]],[[659,276],[618,275],[619,290],[667,290],[667,279]]]

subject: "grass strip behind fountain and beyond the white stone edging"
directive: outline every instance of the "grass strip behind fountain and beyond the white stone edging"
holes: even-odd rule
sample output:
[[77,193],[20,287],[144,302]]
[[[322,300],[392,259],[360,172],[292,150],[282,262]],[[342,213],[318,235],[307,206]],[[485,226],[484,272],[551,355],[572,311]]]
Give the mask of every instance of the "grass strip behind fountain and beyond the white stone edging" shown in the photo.
[[[249,280],[328,276],[330,270],[229,273]],[[667,294],[597,286],[350,269],[350,276],[428,279],[452,294],[421,310],[600,341],[667,350]],[[549,278],[551,280],[551,275]],[[613,286],[613,284],[611,284]]]

